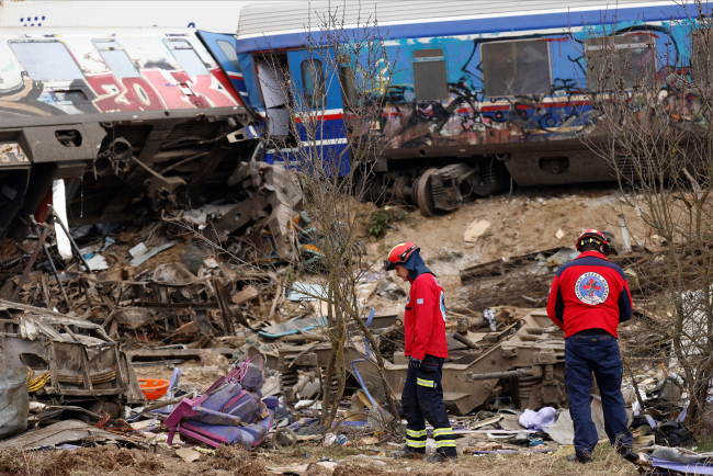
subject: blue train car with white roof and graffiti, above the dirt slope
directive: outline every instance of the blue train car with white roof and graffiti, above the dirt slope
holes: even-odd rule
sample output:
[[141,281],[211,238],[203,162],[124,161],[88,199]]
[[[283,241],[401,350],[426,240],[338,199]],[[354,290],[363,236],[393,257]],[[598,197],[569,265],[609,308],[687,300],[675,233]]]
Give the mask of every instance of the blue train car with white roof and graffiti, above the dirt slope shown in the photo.
[[[331,3],[347,25],[375,15],[397,73],[385,92],[382,124],[398,134],[376,163],[371,199],[398,196],[434,215],[464,200],[509,186],[611,181],[612,169],[577,137],[596,127],[582,88],[587,54],[615,25],[616,52],[642,68],[665,71],[690,57],[689,15],[671,0],[403,0]],[[317,30],[326,1],[258,3],[241,11],[236,56],[242,94],[273,134],[285,114],[261,86],[263,55],[303,79],[305,27]],[[688,9],[688,11],[687,11]],[[609,32],[607,32],[609,33]],[[582,54],[582,50],[585,54]],[[590,83],[592,81],[589,81]],[[343,86],[342,86],[343,87]],[[343,121],[341,97],[327,100],[326,121]],[[343,127],[327,146],[346,143]],[[265,156],[270,161],[273,157]],[[385,192],[385,193],[384,193]]]

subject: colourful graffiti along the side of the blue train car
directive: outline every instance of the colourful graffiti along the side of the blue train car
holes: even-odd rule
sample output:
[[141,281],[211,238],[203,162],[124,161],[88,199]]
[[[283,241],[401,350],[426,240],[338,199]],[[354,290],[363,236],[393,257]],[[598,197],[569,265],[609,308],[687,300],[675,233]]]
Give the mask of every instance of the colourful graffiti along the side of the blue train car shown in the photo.
[[[587,35],[593,35],[590,29]],[[679,29],[681,30],[681,29]],[[687,46],[684,33],[670,25],[619,25],[616,34],[650,36],[661,50],[674,49],[672,58],[678,60]],[[591,126],[593,114],[581,88],[586,87],[586,59],[580,49],[585,43],[585,32],[573,37],[568,35],[528,35],[513,38],[480,36],[476,38],[428,38],[391,41],[392,48],[400,52],[437,50],[443,52],[443,63],[448,68],[448,99],[419,101],[415,78],[416,68],[405,68],[395,78],[394,86],[386,94],[386,110],[382,122],[384,127],[398,131],[388,144],[391,149],[440,147],[459,145],[512,144],[524,141],[562,140],[576,138],[576,134]],[[509,42],[509,39],[512,39]],[[573,44],[577,42],[579,45]],[[546,50],[547,57],[532,56],[545,72],[547,92],[495,95],[488,94],[487,66],[484,56],[487,45],[506,45],[509,43],[540,43],[537,49]],[[484,48],[486,46],[486,48]],[[484,50],[486,53],[484,53]],[[528,52],[525,52],[527,54]],[[431,53],[429,53],[431,54]],[[654,54],[654,52],[652,52]],[[403,56],[403,55],[401,55]],[[660,58],[661,55],[658,55]],[[435,57],[438,59],[438,57]],[[427,61],[427,63],[438,63]],[[528,61],[524,61],[527,66]],[[417,63],[414,64],[416,66]],[[658,65],[660,75],[670,65]],[[435,69],[435,68],[434,68]],[[531,75],[529,68],[522,75]],[[528,84],[523,84],[528,89]],[[533,84],[529,84],[532,87]],[[534,84],[536,86],[536,84]],[[667,86],[664,84],[664,88]]]

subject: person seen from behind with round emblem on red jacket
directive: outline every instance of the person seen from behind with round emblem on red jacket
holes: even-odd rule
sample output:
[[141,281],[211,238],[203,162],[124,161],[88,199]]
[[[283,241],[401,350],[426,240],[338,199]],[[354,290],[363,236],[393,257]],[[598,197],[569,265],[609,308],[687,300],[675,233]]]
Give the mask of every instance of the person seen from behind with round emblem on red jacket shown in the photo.
[[579,257],[557,269],[550,288],[547,315],[565,331],[565,382],[575,426],[569,461],[588,463],[599,437],[591,421],[591,373],[604,412],[604,430],[622,456],[633,443],[621,393],[622,363],[616,327],[632,317],[626,275],[610,262],[609,240],[588,229],[577,239]]

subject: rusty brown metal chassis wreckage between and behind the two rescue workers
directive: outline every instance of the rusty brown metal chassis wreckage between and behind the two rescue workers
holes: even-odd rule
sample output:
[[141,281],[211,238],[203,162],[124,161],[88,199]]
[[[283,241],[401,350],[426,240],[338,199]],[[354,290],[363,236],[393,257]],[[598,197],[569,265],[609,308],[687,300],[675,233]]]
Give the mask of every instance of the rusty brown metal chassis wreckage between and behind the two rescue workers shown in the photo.
[[[466,363],[446,362],[443,365],[443,400],[453,415],[466,415],[477,408],[485,408],[489,401],[501,395],[510,395],[516,408],[539,408],[543,405],[564,407],[567,394],[564,385],[565,340],[564,333],[552,324],[546,313],[535,310],[507,326],[499,332],[486,335],[475,342],[475,351]],[[307,351],[303,353],[303,351]],[[306,364],[325,369],[331,348],[328,343],[308,347],[279,349],[281,372],[285,387],[298,381],[298,373],[290,364],[297,356]],[[344,360],[363,359],[363,339],[354,339],[347,348]],[[299,363],[295,363],[299,365]],[[358,370],[377,403],[385,396],[375,362],[360,362]],[[305,372],[308,365],[299,370]],[[408,364],[384,365],[386,379],[397,398],[400,398],[406,382]]]

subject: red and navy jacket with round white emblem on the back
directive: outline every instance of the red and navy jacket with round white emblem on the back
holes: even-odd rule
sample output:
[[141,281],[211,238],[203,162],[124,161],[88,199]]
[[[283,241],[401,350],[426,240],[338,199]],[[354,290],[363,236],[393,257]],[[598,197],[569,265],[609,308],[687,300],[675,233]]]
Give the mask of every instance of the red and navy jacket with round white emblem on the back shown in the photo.
[[586,251],[557,270],[547,315],[565,338],[586,329],[604,329],[619,339],[619,322],[632,317],[626,275],[597,251]]

